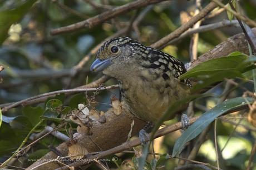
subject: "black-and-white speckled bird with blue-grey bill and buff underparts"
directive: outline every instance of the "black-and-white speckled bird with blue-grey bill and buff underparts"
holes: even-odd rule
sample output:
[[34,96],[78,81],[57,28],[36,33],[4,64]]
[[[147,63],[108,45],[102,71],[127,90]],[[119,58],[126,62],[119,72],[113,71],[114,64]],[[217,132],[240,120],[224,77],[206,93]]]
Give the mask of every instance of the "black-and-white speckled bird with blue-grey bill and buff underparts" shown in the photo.
[[179,59],[129,37],[102,44],[91,71],[116,78],[129,111],[153,124],[171,104],[187,97],[192,86],[189,78],[179,79],[186,72]]

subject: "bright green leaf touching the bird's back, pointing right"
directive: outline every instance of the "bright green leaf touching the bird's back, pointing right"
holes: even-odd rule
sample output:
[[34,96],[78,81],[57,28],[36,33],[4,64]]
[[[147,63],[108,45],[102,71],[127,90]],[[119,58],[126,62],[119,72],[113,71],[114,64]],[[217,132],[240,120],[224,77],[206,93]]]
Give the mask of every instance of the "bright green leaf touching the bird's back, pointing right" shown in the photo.
[[205,76],[206,74],[214,74],[220,71],[240,71],[242,69],[239,64],[248,59],[246,54],[235,52],[226,57],[210,59],[206,62],[198,64],[188,72],[182,74],[179,78],[185,79],[189,77]]

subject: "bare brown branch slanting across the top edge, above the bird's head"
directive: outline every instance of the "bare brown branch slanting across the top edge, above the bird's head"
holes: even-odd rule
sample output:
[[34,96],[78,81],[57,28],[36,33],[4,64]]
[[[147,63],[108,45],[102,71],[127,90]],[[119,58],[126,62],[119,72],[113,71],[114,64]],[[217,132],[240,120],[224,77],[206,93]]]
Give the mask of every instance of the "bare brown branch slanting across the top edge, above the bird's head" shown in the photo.
[[159,3],[161,1],[166,1],[166,0],[148,0],[148,1],[137,0],[135,2],[130,2],[130,3],[124,4],[123,6],[110,9],[109,11],[101,13],[92,18],[88,18],[85,21],[71,24],[66,27],[60,27],[60,28],[53,29],[51,31],[51,34],[56,35],[56,34],[65,33],[65,32],[72,32],[72,31],[76,31],[77,29],[81,29],[81,28],[85,28],[85,27],[92,28],[92,27],[96,26],[97,24],[100,24],[108,19],[113,18],[113,17],[119,16],[120,14],[124,14],[124,13],[132,11],[134,9],[148,6],[150,4]]

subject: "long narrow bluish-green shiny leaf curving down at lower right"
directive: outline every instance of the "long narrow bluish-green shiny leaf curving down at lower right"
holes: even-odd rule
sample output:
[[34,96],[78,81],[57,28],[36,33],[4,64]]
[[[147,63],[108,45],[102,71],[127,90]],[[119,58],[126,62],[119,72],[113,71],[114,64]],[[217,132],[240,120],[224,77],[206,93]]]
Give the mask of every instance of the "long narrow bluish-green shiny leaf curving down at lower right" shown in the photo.
[[221,114],[227,113],[229,111],[235,111],[240,107],[247,106],[247,102],[252,103],[254,100],[253,98],[243,98],[237,97],[229,99],[223,103],[216,105],[214,108],[206,111],[200,118],[198,118],[191,126],[184,131],[181,136],[177,139],[174,144],[173,154],[172,156],[176,156],[179,154],[186,142],[191,141],[194,139],[198,134],[200,134],[211,122],[214,121],[215,118],[220,116]]

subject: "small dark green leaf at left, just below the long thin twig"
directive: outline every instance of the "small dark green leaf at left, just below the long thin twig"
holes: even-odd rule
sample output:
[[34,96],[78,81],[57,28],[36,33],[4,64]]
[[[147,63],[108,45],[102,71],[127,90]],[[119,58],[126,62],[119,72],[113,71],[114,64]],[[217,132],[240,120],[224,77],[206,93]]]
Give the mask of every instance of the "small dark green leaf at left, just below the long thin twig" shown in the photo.
[[31,122],[32,126],[35,126],[40,121],[40,116],[42,116],[44,112],[45,111],[40,106],[38,106],[38,107],[32,107],[32,106],[22,107],[23,115],[29,119],[29,122]]

